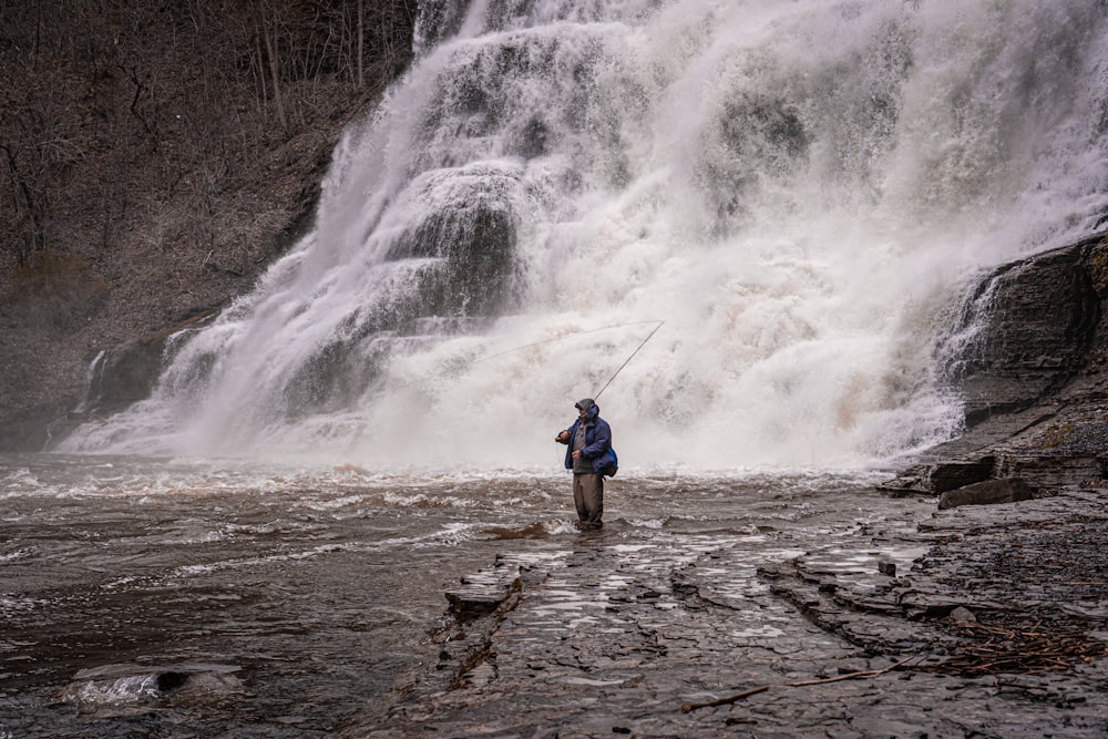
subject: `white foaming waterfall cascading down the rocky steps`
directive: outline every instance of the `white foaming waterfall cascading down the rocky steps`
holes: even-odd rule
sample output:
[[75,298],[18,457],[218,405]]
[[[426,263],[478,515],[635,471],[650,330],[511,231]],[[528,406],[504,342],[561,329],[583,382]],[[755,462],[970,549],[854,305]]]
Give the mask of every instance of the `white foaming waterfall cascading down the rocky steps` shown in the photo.
[[665,320],[626,465],[864,464],[957,431],[966,277],[1108,208],[1104,2],[421,6],[315,232],[64,450],[550,465]]

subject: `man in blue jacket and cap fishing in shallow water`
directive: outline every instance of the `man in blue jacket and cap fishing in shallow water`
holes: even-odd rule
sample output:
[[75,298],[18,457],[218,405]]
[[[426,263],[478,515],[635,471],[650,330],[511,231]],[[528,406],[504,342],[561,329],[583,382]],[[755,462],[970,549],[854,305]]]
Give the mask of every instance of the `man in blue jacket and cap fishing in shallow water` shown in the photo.
[[604,524],[604,475],[602,470],[609,463],[612,428],[599,417],[601,409],[592,398],[578,400],[575,404],[577,420],[568,429],[555,437],[555,441],[566,444],[565,469],[573,470],[573,504],[577,509],[577,526],[599,528]]

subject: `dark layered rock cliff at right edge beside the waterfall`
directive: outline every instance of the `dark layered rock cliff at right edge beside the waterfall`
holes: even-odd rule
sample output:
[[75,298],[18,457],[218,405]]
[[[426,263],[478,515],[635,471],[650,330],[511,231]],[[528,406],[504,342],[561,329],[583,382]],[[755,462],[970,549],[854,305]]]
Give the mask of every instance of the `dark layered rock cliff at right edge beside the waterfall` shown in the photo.
[[996,478],[1047,489],[1108,476],[1106,301],[1104,234],[985,277],[947,350],[966,432],[888,489],[941,493]]

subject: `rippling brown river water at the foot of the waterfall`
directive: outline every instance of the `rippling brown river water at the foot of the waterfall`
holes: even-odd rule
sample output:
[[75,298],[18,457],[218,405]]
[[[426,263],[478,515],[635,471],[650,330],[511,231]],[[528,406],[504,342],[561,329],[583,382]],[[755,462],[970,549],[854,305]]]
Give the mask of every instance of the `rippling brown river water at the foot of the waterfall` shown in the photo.
[[878,476],[620,471],[594,535],[553,466],[6,456],[0,737],[327,736],[433,663],[444,591],[497,555],[739,545],[752,579],[922,504]]

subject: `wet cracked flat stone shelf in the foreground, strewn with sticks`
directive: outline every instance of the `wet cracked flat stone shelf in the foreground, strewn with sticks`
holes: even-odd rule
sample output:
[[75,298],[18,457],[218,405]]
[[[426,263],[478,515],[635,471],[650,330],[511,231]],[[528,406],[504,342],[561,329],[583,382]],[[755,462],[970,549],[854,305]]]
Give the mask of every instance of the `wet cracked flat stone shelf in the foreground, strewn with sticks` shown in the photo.
[[1106,502],[863,523],[792,557],[604,532],[504,554],[459,588],[483,613],[343,736],[1108,736]]

